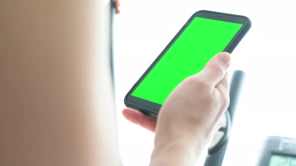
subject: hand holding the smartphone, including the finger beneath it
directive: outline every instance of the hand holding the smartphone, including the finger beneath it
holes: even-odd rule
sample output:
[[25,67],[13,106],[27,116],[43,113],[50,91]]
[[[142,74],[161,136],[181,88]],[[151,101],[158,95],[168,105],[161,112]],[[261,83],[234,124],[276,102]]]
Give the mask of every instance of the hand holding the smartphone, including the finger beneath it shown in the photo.
[[220,53],[200,73],[180,83],[163,104],[158,119],[123,109],[126,119],[156,133],[150,165],[195,164],[221,127],[221,115],[229,105],[229,61],[229,53]]

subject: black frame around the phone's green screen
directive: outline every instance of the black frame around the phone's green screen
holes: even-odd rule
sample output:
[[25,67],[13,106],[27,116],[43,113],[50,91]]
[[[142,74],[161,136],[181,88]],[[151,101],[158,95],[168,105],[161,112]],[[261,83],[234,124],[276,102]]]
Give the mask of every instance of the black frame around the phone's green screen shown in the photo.
[[248,32],[251,27],[251,21],[248,17],[243,15],[229,14],[223,12],[209,11],[209,10],[199,10],[195,12],[183,27],[179,30],[179,32],[173,37],[173,39],[169,42],[169,44],[165,47],[165,49],[160,53],[160,55],[154,60],[154,62],[146,69],[146,71],[141,75],[141,77],[137,80],[137,82],[132,86],[132,88],[127,92],[124,97],[124,104],[127,107],[131,107],[137,109],[147,115],[157,117],[158,111],[161,108],[161,104],[151,102],[142,98],[138,98],[132,96],[131,93],[134,89],[139,85],[139,83],[145,78],[145,76],[151,71],[151,69],[157,64],[160,58],[167,52],[167,50],[171,47],[171,45],[176,41],[176,39],[182,34],[182,32],[186,29],[186,27],[190,24],[190,22],[195,17],[203,17],[210,18],[222,21],[229,21],[235,23],[242,23],[243,26],[236,33],[236,35],[232,38],[232,40],[228,43],[223,51],[231,53],[234,48],[238,45],[240,40],[244,37],[244,35]]

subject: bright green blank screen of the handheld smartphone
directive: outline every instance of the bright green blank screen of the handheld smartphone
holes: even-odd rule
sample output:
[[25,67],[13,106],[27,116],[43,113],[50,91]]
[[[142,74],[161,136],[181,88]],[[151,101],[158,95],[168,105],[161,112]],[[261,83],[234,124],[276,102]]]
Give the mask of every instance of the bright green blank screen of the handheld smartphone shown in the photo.
[[131,95],[163,104],[182,80],[223,51],[242,25],[195,17]]

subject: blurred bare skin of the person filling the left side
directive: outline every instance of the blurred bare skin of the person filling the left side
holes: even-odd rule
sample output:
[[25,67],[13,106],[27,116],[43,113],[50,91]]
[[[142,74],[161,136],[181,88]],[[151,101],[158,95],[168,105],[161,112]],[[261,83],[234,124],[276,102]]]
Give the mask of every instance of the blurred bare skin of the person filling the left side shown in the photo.
[[108,19],[94,2],[104,11],[0,0],[0,165],[120,165]]

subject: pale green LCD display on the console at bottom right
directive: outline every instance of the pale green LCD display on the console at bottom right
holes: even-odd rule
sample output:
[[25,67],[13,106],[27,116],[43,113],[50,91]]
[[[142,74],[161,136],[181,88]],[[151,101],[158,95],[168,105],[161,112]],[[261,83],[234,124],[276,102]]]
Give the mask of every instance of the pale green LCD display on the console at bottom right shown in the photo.
[[296,157],[272,155],[269,166],[296,166]]

